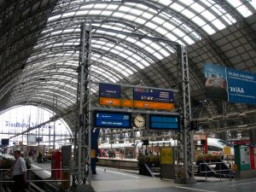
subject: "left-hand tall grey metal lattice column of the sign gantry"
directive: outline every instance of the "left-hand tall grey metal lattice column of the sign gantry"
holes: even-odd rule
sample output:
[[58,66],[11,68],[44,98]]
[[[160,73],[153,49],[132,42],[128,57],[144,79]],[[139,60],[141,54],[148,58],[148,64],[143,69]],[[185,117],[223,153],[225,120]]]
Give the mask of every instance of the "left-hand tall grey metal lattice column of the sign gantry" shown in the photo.
[[[90,184],[90,51],[91,51],[90,26],[81,25],[79,68],[78,68],[78,90],[77,90],[77,123],[75,129],[75,155],[74,161],[77,167],[76,177],[73,184],[81,184],[88,180]],[[89,165],[89,176],[85,172],[85,165]],[[86,178],[87,177],[87,178]]]

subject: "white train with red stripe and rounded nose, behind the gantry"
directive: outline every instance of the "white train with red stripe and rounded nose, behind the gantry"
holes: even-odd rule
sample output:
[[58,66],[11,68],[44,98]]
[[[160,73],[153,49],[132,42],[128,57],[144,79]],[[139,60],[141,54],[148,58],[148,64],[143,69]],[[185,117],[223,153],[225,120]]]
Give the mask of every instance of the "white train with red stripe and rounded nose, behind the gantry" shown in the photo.
[[[160,147],[177,146],[177,140],[135,143],[104,143],[98,146],[100,158],[136,159],[139,154],[157,154]],[[230,155],[224,154],[224,147],[230,147]],[[234,148],[226,141],[218,138],[207,137],[207,154],[224,155],[224,158],[234,159]]]

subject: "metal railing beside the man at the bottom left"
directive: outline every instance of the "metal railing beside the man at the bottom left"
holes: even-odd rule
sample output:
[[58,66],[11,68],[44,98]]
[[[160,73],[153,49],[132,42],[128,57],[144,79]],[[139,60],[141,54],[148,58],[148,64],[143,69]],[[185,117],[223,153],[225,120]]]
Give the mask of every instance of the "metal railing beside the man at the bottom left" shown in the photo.
[[[3,184],[5,183],[14,183],[14,180],[11,180],[11,177],[6,177],[6,180],[4,180],[4,177],[6,176],[4,172],[9,171],[9,169],[0,169],[0,192],[3,192]],[[46,172],[46,171],[68,171],[68,179],[43,179],[43,180],[32,180],[32,172]],[[36,174],[36,173],[35,173]],[[31,192],[32,191],[32,183],[55,183],[55,191],[58,191],[58,185],[57,183],[62,183],[62,182],[68,182],[68,188],[70,187],[70,169],[27,169],[26,172],[26,177],[27,177],[27,191]],[[62,177],[62,174],[61,174]],[[44,190],[43,190],[44,191]]]

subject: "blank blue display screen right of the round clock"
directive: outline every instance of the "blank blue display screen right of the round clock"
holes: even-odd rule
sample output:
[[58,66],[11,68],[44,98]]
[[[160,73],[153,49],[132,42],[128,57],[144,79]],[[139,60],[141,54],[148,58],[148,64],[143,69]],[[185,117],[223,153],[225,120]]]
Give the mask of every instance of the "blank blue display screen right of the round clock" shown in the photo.
[[180,130],[180,118],[177,115],[149,115],[149,129],[152,130]]

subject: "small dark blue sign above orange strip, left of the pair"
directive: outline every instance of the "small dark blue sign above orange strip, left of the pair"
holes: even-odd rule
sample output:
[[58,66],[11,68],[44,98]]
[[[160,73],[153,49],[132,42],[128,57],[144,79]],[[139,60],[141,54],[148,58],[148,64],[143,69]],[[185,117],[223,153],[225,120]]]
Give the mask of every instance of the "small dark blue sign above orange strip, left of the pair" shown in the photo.
[[100,97],[121,98],[121,86],[119,84],[99,84]]

